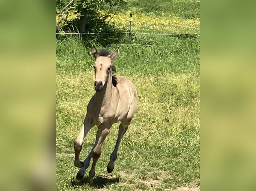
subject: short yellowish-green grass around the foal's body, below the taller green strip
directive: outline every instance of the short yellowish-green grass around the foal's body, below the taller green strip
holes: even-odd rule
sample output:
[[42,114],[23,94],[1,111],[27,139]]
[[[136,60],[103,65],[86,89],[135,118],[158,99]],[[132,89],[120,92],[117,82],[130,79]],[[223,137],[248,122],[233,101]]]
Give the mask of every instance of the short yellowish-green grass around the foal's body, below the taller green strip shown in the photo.
[[[159,77],[138,74],[126,76],[134,82],[139,100],[112,173],[121,181],[106,187],[119,190],[128,184],[132,190],[152,190],[141,180],[153,182],[154,179],[159,180],[159,185],[154,185],[153,190],[159,186],[175,188],[184,183],[195,184],[199,181],[199,78],[194,74],[165,74]],[[79,75],[56,76],[57,153],[74,153],[73,141],[82,125],[88,101],[95,93],[93,75],[93,71],[88,71]],[[96,167],[96,180],[99,175],[111,178],[106,166],[117,139],[117,126],[113,125],[104,142]],[[93,128],[86,136],[82,159],[92,148],[96,131],[97,128]],[[57,187],[70,189],[68,180],[75,178],[78,170],[73,166],[74,156],[57,158]],[[65,181],[59,181],[61,179]],[[92,189],[86,184],[81,186],[76,189]]]

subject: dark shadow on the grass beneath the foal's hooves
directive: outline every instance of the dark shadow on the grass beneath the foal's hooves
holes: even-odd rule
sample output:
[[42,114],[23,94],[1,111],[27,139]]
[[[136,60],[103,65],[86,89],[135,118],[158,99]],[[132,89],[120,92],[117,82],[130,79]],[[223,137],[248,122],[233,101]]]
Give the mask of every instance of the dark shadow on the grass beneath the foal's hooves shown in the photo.
[[[73,188],[76,188],[76,187],[83,186],[84,184],[88,184],[87,178],[88,178],[88,176],[84,177],[80,181],[76,180],[75,178],[72,178],[71,186]],[[103,176],[99,175],[99,176],[96,176],[93,179],[93,186],[92,187],[97,188],[97,189],[102,189],[102,188],[105,187],[105,185],[111,184],[111,183],[116,183],[116,182],[119,182],[119,177],[111,178],[111,177],[103,177]]]

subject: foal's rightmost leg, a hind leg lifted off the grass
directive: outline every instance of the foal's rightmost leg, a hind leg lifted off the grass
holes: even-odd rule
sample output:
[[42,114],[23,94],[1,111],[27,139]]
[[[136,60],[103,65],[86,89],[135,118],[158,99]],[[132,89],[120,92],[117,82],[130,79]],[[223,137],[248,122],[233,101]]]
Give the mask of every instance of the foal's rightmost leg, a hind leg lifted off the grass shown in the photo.
[[111,173],[115,168],[115,161],[117,159],[117,150],[118,150],[119,144],[121,142],[121,139],[124,136],[124,133],[127,131],[127,129],[128,129],[128,125],[123,125],[122,123],[119,125],[116,146],[114,148],[114,151],[110,155],[110,160],[109,160],[108,167],[107,167],[108,173]]

